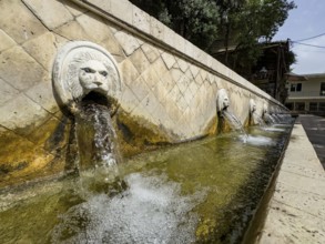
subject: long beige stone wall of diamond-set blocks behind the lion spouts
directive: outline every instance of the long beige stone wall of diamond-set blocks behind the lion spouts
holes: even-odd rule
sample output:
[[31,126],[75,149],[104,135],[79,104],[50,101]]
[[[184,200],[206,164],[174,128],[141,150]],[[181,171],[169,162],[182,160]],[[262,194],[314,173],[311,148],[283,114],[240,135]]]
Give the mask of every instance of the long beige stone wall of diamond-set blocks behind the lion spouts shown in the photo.
[[67,166],[71,120],[54,98],[52,65],[69,41],[94,42],[114,57],[122,77],[121,118],[142,121],[162,141],[206,134],[216,123],[221,88],[242,122],[250,99],[260,113],[264,103],[284,110],[126,0],[2,0],[0,16],[0,187]]

